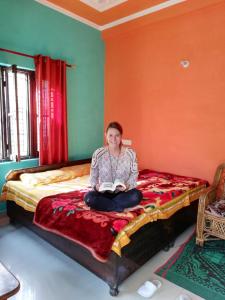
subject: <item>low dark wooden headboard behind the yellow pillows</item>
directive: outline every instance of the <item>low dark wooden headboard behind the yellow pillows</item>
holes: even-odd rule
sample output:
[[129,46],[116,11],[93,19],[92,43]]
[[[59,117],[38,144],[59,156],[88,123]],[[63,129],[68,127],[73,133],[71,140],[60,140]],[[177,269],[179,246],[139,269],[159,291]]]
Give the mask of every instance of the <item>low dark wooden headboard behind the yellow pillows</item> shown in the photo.
[[63,167],[68,167],[68,166],[86,164],[86,163],[90,163],[90,162],[91,162],[91,158],[87,158],[87,159],[81,159],[81,160],[73,160],[73,161],[63,162],[63,163],[54,164],[54,165],[45,165],[45,166],[38,166],[38,167],[32,167],[32,168],[16,169],[16,170],[9,171],[6,174],[5,179],[6,179],[6,181],[9,181],[9,180],[19,180],[20,179],[20,175],[23,174],[23,173],[44,172],[44,171],[60,169],[60,168],[63,168]]

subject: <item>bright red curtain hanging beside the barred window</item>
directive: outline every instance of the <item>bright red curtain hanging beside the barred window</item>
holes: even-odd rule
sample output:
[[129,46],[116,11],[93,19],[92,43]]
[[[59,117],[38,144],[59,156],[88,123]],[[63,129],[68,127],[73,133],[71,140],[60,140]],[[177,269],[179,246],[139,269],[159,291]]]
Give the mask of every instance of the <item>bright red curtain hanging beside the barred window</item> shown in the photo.
[[66,63],[35,56],[40,165],[68,160]]

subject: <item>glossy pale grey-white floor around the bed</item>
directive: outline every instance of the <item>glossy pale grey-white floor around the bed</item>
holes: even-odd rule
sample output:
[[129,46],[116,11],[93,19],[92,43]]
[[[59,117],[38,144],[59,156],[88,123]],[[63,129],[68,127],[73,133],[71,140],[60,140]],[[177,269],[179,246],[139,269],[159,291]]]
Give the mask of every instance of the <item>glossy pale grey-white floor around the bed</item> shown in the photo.
[[180,294],[191,299],[202,299],[153,273],[167,260],[191,234],[193,228],[181,235],[170,251],[161,251],[141,269],[131,275],[120,286],[120,293],[109,295],[106,283],[81,267],[72,259],[40,239],[24,227],[8,225],[0,227],[0,260],[20,280],[21,289],[12,300],[97,300],[145,299],[137,289],[146,280],[158,278],[162,287],[151,298],[154,300],[175,300]]

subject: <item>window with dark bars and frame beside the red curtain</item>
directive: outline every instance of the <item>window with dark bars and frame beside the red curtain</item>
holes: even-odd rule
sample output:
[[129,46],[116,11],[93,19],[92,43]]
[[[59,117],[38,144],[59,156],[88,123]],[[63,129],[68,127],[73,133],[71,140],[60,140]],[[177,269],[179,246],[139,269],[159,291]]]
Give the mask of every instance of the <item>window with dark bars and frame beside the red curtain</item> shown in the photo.
[[34,72],[0,66],[0,160],[38,157]]

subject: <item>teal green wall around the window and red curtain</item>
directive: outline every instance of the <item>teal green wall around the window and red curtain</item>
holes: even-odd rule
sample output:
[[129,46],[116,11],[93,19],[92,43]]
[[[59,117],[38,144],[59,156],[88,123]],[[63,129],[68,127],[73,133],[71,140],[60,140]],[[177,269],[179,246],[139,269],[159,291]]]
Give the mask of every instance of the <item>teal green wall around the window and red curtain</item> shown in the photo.
[[[0,48],[48,55],[76,65],[67,68],[69,158],[90,157],[103,143],[101,33],[34,0],[0,0]],[[0,63],[34,69],[32,59],[1,51]],[[36,160],[0,163],[0,188],[8,170],[34,164]]]

